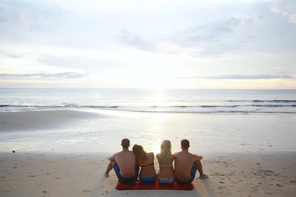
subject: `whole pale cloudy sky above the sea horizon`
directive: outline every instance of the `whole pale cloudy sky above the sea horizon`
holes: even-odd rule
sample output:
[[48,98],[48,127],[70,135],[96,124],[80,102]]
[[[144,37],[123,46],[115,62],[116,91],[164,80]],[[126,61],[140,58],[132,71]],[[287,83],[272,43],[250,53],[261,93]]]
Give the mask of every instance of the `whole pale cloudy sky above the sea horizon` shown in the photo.
[[296,89],[296,0],[1,0],[0,88]]

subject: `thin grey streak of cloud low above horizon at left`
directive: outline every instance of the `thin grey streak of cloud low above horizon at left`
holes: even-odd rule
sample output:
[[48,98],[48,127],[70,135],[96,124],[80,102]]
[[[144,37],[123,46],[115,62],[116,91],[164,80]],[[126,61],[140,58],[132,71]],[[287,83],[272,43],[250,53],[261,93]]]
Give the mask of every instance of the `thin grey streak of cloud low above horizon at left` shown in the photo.
[[76,79],[76,78],[84,78],[88,75],[81,74],[77,72],[61,72],[61,73],[0,73],[0,77],[43,77],[43,78],[68,78],[68,79]]

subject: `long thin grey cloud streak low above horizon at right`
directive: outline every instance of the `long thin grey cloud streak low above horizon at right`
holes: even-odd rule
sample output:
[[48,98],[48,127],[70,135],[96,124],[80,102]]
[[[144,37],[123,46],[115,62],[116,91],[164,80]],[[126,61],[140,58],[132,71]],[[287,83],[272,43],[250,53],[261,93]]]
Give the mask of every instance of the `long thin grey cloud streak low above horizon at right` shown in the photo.
[[217,76],[191,76],[179,77],[179,79],[296,79],[291,75],[217,75]]

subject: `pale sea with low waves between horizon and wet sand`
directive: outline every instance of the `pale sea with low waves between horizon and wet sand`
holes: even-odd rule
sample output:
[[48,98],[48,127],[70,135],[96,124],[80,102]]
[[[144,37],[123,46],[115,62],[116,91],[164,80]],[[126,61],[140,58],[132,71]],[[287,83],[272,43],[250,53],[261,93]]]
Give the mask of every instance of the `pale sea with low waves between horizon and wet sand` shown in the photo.
[[296,113],[296,90],[0,89],[0,111]]

